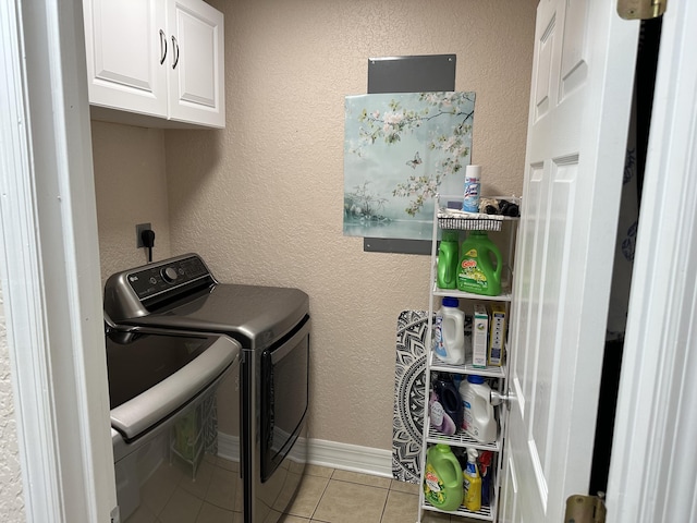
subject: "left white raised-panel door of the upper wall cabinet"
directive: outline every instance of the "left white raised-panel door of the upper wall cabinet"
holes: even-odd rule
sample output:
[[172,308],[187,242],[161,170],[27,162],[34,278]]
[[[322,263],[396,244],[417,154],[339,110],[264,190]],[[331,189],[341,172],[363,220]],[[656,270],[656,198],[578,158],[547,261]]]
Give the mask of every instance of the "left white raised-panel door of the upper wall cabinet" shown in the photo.
[[85,0],[84,17],[89,102],[167,118],[164,1]]

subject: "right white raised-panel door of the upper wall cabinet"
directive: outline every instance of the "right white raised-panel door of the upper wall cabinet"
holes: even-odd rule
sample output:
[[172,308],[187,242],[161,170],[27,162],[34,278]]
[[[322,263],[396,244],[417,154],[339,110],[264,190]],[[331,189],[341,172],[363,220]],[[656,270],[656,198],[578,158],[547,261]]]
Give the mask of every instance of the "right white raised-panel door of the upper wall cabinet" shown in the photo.
[[223,15],[199,0],[167,4],[170,119],[225,125]]

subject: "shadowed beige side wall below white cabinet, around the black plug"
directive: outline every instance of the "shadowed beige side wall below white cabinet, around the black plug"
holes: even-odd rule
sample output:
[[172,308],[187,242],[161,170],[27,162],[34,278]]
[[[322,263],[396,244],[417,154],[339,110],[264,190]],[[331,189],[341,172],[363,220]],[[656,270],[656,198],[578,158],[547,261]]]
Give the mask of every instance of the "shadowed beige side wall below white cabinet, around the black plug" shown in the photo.
[[91,145],[102,280],[147,263],[136,248],[136,223],[152,224],[152,259],[169,257],[162,130],[93,121]]

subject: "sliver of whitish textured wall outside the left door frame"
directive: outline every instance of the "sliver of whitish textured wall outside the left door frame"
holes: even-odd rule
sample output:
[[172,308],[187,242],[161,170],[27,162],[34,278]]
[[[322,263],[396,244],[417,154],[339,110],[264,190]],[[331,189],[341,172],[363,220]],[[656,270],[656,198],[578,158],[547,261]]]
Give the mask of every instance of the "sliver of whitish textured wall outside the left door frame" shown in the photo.
[[26,521],[26,514],[11,373],[0,288],[0,521],[19,523]]

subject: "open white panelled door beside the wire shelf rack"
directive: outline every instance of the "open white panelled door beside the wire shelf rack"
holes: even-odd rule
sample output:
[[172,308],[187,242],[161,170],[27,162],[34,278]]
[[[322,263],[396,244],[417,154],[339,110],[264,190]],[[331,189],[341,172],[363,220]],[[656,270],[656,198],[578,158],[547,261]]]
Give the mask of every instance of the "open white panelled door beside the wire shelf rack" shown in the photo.
[[588,491],[638,22],[538,5],[510,333],[502,521]]

